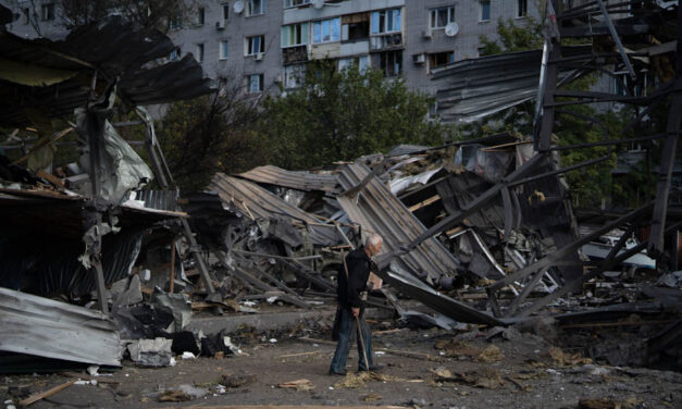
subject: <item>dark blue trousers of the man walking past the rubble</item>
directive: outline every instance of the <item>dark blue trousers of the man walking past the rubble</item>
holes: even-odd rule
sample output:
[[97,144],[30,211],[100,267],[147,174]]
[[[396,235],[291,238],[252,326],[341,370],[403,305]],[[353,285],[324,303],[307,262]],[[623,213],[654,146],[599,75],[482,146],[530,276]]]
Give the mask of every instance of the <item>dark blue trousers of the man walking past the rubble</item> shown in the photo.
[[[364,310],[364,309],[362,309]],[[367,365],[364,362],[364,355],[362,354],[362,344],[360,343],[360,338],[358,338],[358,329],[356,323],[356,318],[352,317],[352,312],[350,312],[349,308],[342,307],[340,313],[340,331],[338,334],[338,344],[336,345],[336,352],[334,352],[334,358],[332,359],[332,368],[330,368],[331,372],[334,373],[344,373],[346,372],[346,361],[348,360],[348,354],[350,352],[350,343],[352,342],[352,337],[355,336],[358,342],[358,355],[360,356],[358,360],[358,369],[360,371],[367,371],[368,368],[374,367],[374,360],[372,359],[372,337],[370,333],[370,329],[364,322],[364,311],[361,311],[359,320],[360,326],[362,329],[362,338],[364,339],[364,348],[367,352],[367,359],[370,361],[370,365]]]

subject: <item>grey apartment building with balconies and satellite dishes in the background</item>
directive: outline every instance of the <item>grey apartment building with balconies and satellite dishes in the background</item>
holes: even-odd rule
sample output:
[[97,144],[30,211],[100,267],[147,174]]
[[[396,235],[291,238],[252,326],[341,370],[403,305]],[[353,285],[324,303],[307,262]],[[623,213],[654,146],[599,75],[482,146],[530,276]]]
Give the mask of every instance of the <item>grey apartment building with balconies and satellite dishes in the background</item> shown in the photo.
[[433,67],[478,57],[499,17],[522,25],[529,15],[538,17],[535,0],[207,0],[170,35],[173,58],[191,52],[208,75],[239,78],[248,92],[294,88],[315,59],[433,91]]

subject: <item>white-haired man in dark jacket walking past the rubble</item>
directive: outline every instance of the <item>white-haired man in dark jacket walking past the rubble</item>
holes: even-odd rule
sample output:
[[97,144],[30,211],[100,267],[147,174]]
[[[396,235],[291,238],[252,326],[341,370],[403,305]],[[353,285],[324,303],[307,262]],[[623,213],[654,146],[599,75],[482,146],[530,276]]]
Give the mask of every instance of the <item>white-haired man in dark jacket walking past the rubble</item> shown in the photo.
[[[376,371],[380,369],[380,367],[374,365],[372,359],[372,334],[364,321],[364,297],[362,293],[368,290],[367,282],[373,264],[371,258],[381,251],[382,243],[381,236],[376,234],[367,237],[364,246],[348,253],[344,260],[344,265],[338,272],[336,293],[340,312],[338,315],[339,334],[336,352],[334,352],[332,367],[330,368],[331,375],[346,374],[346,361],[348,360],[348,352],[350,352],[350,340],[354,335],[358,335],[358,332],[362,333],[362,337],[357,337],[358,370]],[[360,331],[358,331],[358,323],[360,324]],[[364,349],[362,348],[363,346]]]

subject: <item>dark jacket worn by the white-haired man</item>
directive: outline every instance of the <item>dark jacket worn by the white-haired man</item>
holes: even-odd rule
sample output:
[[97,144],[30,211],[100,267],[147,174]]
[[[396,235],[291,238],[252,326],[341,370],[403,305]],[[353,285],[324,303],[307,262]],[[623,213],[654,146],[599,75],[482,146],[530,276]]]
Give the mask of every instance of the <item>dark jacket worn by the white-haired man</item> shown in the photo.
[[360,299],[360,293],[367,289],[367,281],[370,277],[371,260],[364,251],[364,247],[359,247],[346,256],[346,265],[348,267],[348,278],[346,280],[346,271],[342,265],[338,272],[338,286],[336,294],[338,295],[338,303],[344,308],[363,306]]

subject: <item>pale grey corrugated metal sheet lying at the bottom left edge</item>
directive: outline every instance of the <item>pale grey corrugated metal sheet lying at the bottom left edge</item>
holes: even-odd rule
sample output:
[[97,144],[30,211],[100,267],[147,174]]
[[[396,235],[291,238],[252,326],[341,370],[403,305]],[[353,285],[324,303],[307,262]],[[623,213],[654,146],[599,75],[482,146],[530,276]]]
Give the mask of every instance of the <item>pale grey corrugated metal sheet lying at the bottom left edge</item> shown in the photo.
[[119,332],[100,311],[0,287],[0,350],[121,367]]

